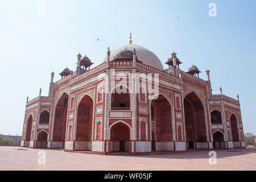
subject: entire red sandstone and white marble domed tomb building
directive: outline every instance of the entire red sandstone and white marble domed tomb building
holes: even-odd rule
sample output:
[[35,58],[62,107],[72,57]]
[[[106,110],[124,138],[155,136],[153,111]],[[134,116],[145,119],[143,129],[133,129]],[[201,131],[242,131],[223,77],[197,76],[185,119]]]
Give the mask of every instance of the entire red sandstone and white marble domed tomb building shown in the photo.
[[[135,44],[108,50],[93,69],[77,57],[75,72],[64,69],[56,82],[52,73],[48,96],[27,100],[21,146],[104,155],[245,147],[239,98],[212,94],[209,71],[207,81],[195,66],[181,71],[176,53],[166,70]],[[135,73],[146,77],[129,77]]]

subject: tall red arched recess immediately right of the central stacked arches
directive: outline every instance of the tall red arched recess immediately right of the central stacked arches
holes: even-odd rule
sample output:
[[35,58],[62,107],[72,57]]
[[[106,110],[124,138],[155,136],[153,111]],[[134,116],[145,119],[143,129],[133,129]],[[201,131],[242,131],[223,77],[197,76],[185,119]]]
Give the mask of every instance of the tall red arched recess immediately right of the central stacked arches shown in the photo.
[[163,94],[159,94],[158,98],[151,102],[151,120],[152,118],[155,119],[155,150],[173,150],[173,146],[171,146],[172,144],[170,143],[173,141],[172,109]]

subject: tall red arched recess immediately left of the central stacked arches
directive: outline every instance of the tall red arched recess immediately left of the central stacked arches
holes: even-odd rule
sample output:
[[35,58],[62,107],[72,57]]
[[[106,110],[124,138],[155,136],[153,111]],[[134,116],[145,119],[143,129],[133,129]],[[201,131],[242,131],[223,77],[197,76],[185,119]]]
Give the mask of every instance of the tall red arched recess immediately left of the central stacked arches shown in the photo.
[[85,95],[77,109],[75,150],[92,150],[93,100]]

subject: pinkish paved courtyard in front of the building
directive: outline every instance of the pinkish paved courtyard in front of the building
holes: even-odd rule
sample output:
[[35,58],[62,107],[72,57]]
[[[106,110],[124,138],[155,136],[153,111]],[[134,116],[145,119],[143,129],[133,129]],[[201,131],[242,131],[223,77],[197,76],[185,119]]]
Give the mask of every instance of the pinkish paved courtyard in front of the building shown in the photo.
[[[22,150],[20,150],[22,149]],[[38,164],[40,151],[46,164]],[[143,156],[104,156],[0,146],[0,170],[255,170],[256,148],[217,150],[210,165],[209,151]],[[40,160],[42,161],[42,160]]]

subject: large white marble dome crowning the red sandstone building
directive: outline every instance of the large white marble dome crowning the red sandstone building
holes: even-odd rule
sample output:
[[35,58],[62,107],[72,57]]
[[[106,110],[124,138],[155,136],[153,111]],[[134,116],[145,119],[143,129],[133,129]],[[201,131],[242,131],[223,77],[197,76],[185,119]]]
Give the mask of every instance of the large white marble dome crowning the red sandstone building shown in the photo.
[[[163,65],[159,58],[147,48],[144,48],[136,44],[125,44],[123,46],[114,48],[112,51],[110,51],[110,61],[113,61],[114,57],[117,56],[121,51],[125,50],[125,48],[130,51],[133,51],[133,49],[135,48],[136,55],[139,61],[142,61],[143,64],[146,64],[150,67],[160,69],[163,71]],[[101,60],[101,63],[104,63],[105,61],[106,56],[104,56],[104,58]]]

